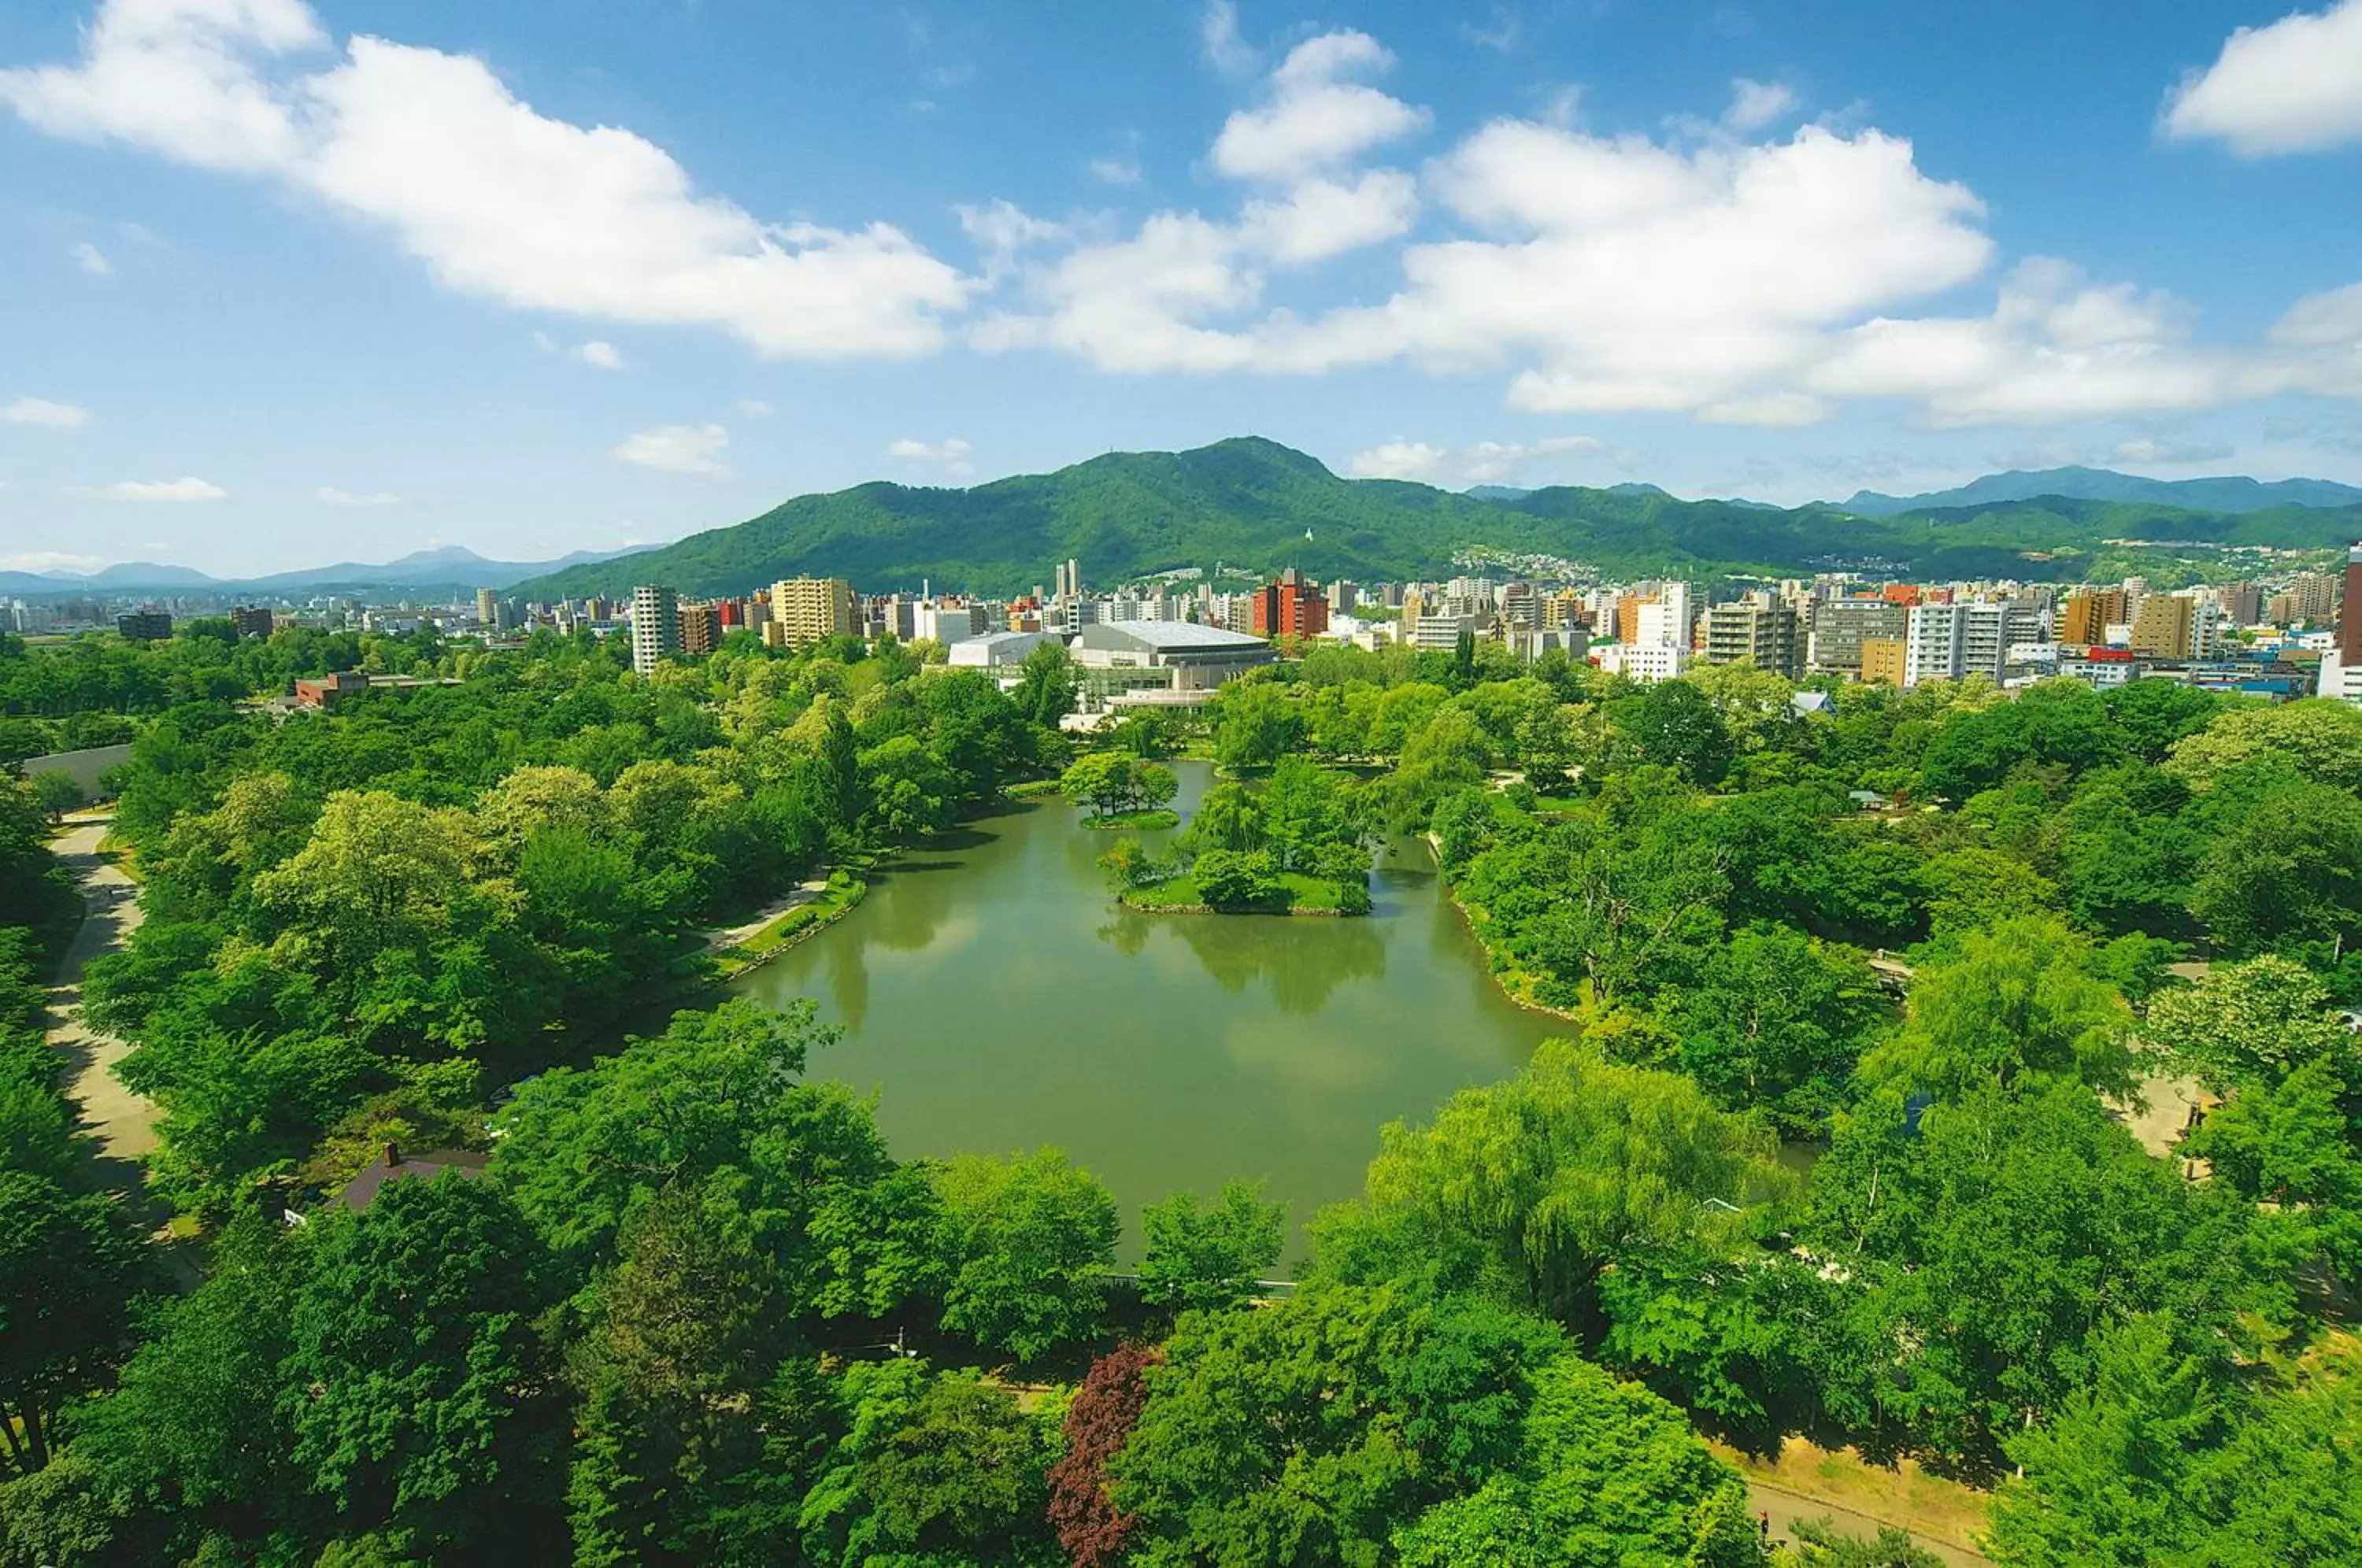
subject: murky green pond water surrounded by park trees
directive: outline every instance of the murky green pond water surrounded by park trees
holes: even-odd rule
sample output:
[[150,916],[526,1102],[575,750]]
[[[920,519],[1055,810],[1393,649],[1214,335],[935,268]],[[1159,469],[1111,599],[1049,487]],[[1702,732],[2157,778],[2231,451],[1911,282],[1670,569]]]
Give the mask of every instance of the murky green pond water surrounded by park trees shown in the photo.
[[[1176,772],[1186,815],[1209,767]],[[1420,843],[1379,857],[1368,919],[1290,919],[1117,909],[1113,838],[1058,801],[966,824],[737,989],[843,1025],[813,1077],[874,1089],[902,1157],[1065,1148],[1124,1207],[1127,1256],[1141,1204],[1231,1176],[1287,1202],[1299,1256],[1382,1124],[1564,1032],[1500,994]]]

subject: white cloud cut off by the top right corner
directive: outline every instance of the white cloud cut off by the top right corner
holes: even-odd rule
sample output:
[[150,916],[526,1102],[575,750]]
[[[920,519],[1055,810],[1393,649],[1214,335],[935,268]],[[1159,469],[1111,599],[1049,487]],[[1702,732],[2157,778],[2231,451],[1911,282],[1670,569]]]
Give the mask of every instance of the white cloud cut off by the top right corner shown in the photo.
[[2242,158],[2362,142],[2362,0],[2239,28],[2213,66],[2166,94],[2159,125]]

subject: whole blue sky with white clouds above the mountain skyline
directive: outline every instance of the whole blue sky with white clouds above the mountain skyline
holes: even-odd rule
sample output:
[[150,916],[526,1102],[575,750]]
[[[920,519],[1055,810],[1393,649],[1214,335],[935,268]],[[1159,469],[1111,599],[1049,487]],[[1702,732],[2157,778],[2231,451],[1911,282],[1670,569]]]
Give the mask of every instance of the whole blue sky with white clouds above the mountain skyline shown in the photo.
[[2362,0],[14,5],[0,564],[539,560],[1240,432],[2362,482],[2357,196]]

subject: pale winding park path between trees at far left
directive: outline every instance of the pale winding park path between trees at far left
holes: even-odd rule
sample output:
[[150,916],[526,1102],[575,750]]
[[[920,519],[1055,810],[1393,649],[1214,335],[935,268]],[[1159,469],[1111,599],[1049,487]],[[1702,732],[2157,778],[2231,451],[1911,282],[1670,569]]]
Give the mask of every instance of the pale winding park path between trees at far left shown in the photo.
[[113,952],[139,928],[139,886],[99,855],[99,838],[113,817],[76,817],[50,841],[50,852],[73,871],[87,919],[66,949],[50,987],[50,1013],[59,1020],[50,1044],[73,1063],[66,1093],[83,1108],[83,1131],[99,1145],[106,1185],[130,1202],[146,1202],[139,1157],[156,1148],[156,1103],[116,1079],[116,1063],[130,1051],[113,1034],[83,1027],[83,966]]

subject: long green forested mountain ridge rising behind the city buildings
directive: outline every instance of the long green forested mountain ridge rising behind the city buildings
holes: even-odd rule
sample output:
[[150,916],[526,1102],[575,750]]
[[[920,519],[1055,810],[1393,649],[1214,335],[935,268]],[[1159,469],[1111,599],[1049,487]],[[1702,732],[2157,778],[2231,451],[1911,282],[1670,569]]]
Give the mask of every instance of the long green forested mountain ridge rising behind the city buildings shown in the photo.
[[[1653,486],[1554,486],[1462,496],[1403,479],[1339,479],[1318,458],[1259,437],[1195,451],[1120,451],[973,489],[860,484],[796,496],[749,522],[626,560],[527,579],[529,600],[624,595],[635,583],[746,593],[782,576],[846,576],[864,593],[919,588],[1023,593],[1079,560],[1108,586],[1176,567],[1313,579],[1448,576],[1472,548],[1557,555],[1606,576],[1679,571],[1800,576],[1831,569],[1927,579],[2081,579],[2097,564],[2171,567],[2171,548],[2123,567],[2107,541],[2329,550],[2362,534],[2362,505],[2201,512],[2154,503],[2043,496],[2001,505],[1861,517],[1835,505],[1677,501]],[[2161,571],[2166,576],[2171,571]]]

